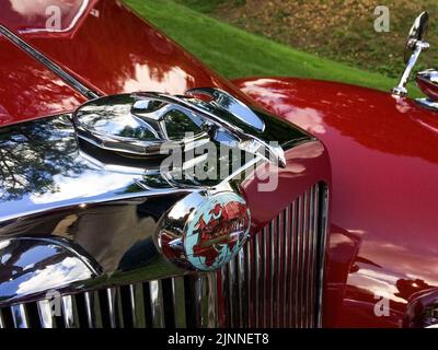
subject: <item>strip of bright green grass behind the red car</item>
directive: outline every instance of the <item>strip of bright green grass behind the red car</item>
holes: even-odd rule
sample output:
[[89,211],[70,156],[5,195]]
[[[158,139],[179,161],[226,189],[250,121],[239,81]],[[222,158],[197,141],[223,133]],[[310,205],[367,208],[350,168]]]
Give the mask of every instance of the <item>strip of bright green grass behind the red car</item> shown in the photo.
[[[194,0],[196,1],[196,0]],[[286,75],[389,91],[394,79],[306,54],[246,33],[171,0],[125,0],[135,11],[214,70],[239,77]],[[410,89],[414,95],[416,89]]]

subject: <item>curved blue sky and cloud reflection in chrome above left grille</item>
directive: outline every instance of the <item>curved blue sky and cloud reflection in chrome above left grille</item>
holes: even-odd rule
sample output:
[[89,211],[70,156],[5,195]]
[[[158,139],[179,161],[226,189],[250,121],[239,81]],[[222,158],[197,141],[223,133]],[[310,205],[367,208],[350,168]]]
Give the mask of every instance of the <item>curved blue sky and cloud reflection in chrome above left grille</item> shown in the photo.
[[[51,289],[74,290],[100,275],[99,265],[66,240],[11,237],[0,241],[0,305]],[[39,305],[42,317],[47,305]],[[47,320],[48,322],[48,320]]]

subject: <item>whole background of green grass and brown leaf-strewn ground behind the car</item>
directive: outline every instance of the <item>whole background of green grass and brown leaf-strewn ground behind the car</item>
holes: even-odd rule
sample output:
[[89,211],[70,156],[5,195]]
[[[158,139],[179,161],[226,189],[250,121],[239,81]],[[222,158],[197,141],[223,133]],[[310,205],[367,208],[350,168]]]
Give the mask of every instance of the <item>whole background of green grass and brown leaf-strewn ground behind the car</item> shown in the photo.
[[[430,15],[417,70],[438,59],[437,0],[126,0],[148,21],[227,78],[292,75],[389,90],[404,68],[417,14]],[[389,10],[376,32],[374,9]],[[416,95],[417,90],[412,90]]]

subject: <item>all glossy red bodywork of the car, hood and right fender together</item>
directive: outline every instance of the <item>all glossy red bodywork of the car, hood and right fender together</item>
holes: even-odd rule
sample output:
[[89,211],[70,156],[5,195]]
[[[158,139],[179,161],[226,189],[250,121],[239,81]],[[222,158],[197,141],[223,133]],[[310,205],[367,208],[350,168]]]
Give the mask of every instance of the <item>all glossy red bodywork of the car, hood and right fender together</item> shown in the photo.
[[[416,325],[410,305],[438,285],[436,113],[408,98],[335,82],[229,82],[116,1],[65,3],[77,7],[79,14],[56,33],[44,31],[44,11],[37,5],[34,13],[19,13],[12,1],[3,1],[0,22],[102,94],[182,94],[216,86],[241,101],[255,101],[322,140],[333,174],[323,326]],[[0,127],[73,110],[85,102],[1,36],[0,62]],[[288,159],[301,158],[308,177],[290,178],[285,171],[281,186],[299,194],[314,180],[330,178],[306,155],[312,150],[297,152]],[[278,192],[261,198],[254,188],[250,184],[245,191],[256,231],[290,198]],[[389,301],[389,313],[378,315],[382,299]]]

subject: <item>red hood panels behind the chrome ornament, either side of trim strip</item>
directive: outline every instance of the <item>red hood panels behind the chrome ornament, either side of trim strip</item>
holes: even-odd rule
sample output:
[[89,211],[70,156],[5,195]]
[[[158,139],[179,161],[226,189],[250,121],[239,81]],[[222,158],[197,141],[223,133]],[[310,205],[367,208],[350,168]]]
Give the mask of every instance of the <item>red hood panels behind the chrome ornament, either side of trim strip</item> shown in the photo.
[[[49,7],[59,28],[46,28]],[[46,12],[47,11],[47,12]],[[184,93],[218,86],[242,93],[113,0],[4,0],[0,23],[102,93]],[[0,35],[0,126],[71,110],[84,98]]]

